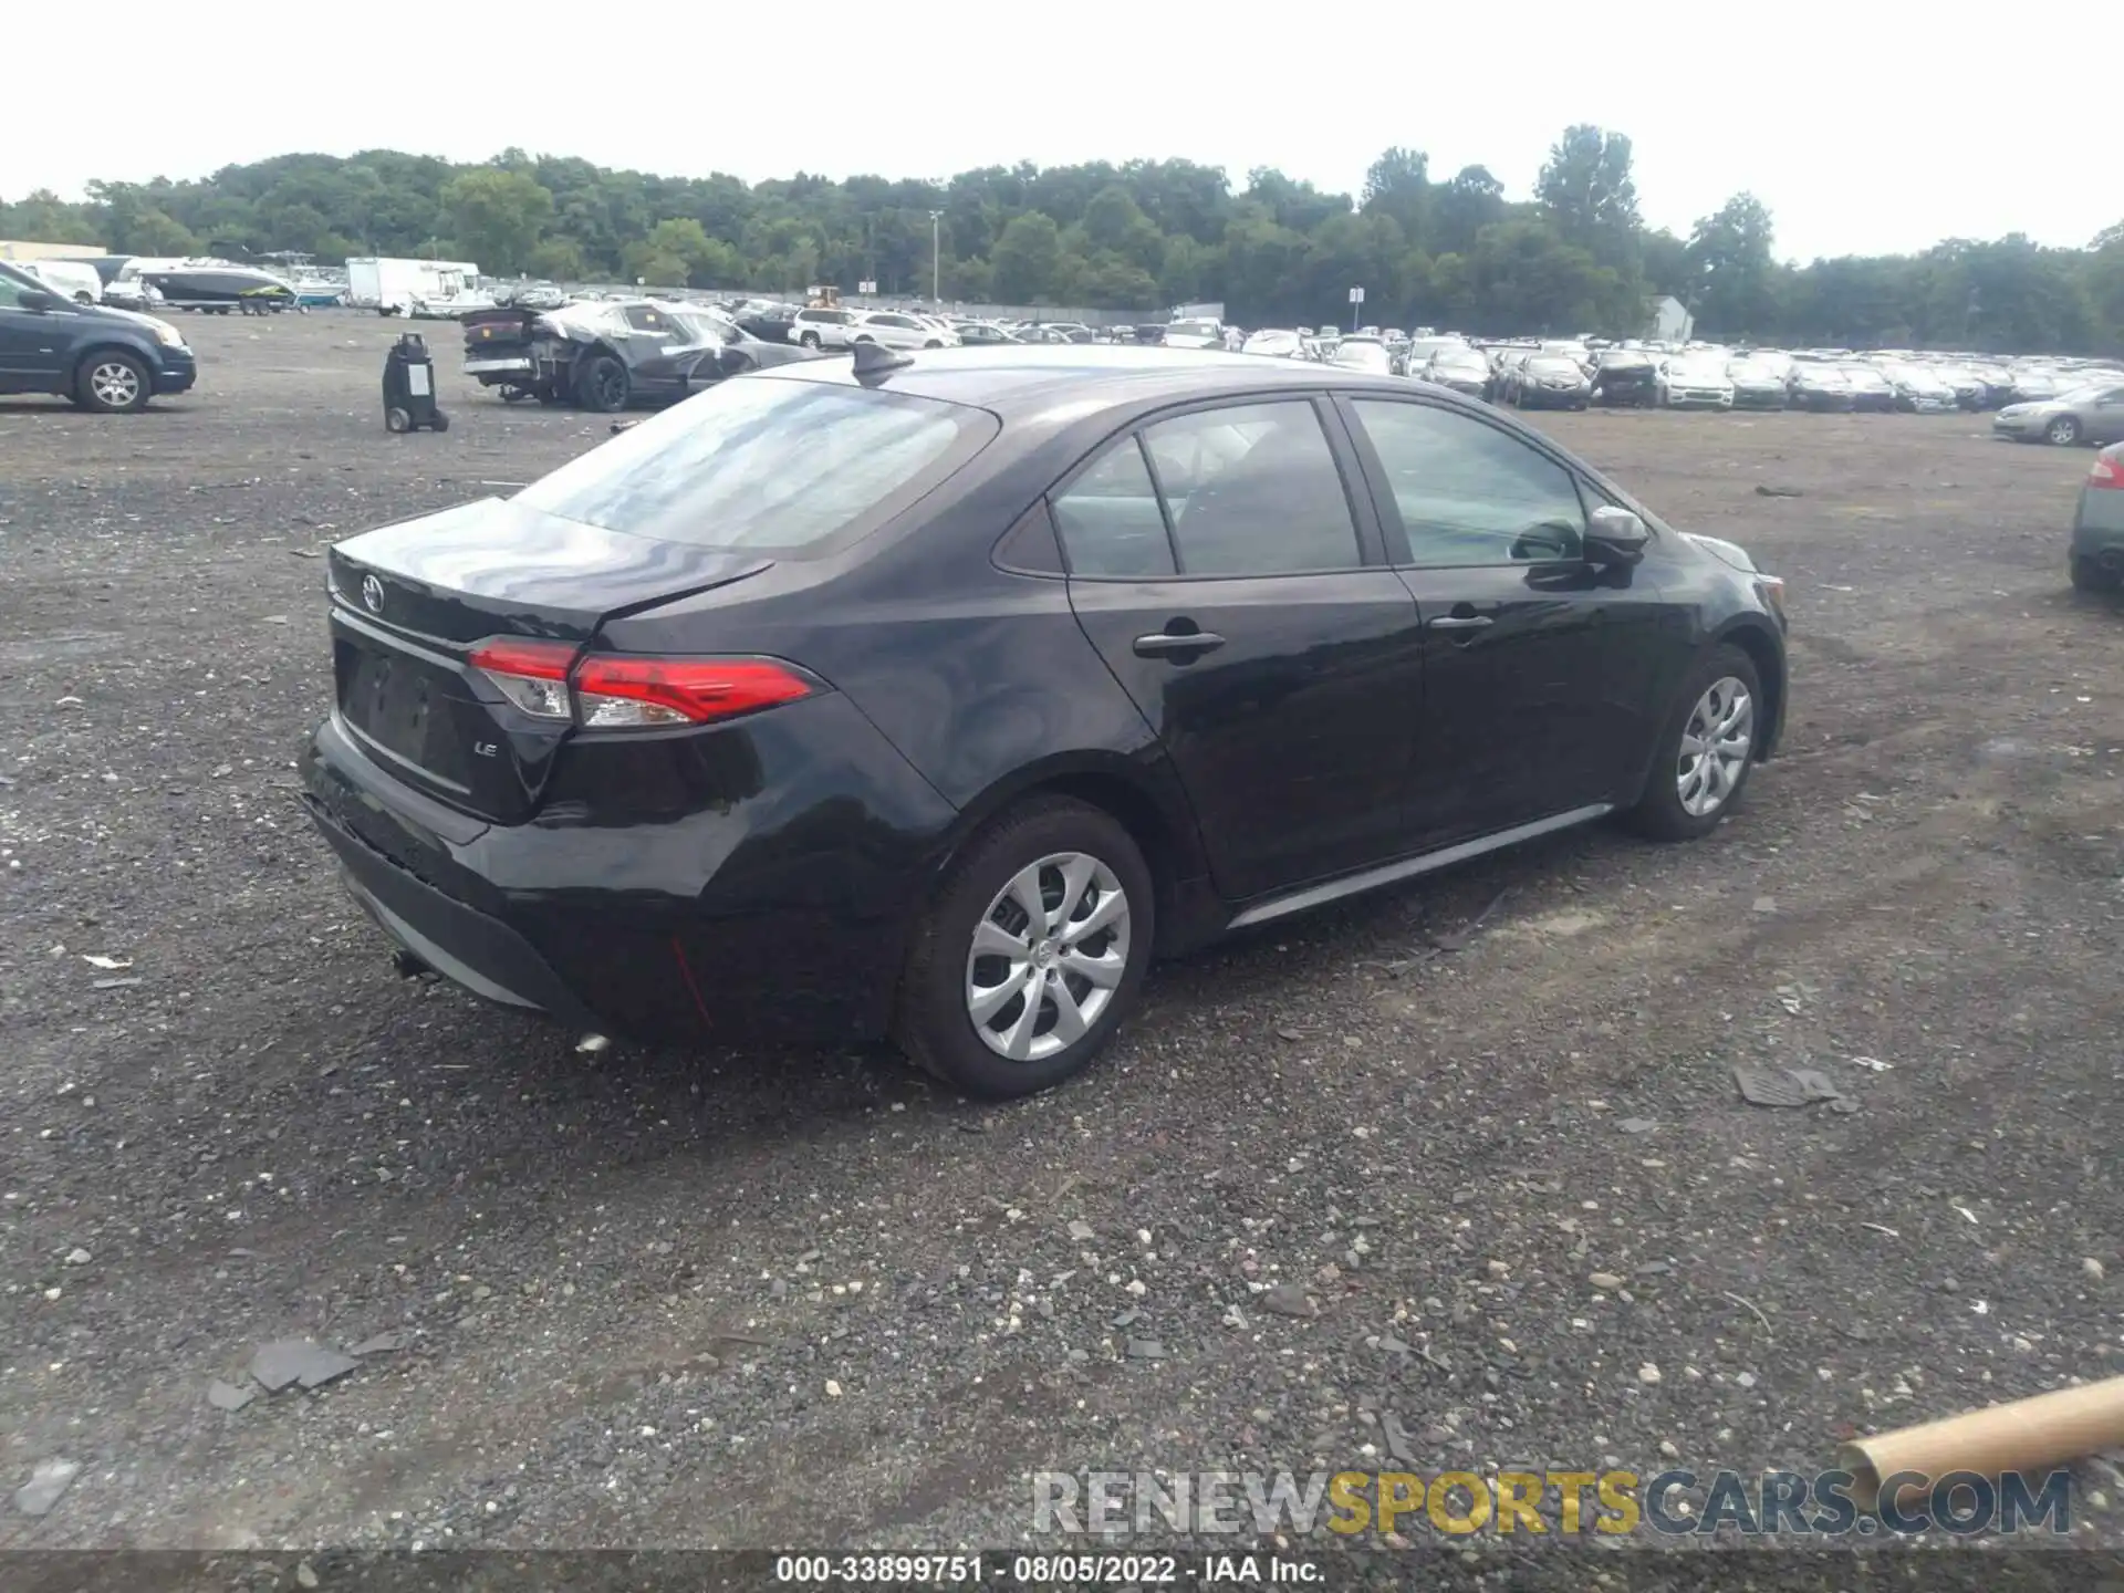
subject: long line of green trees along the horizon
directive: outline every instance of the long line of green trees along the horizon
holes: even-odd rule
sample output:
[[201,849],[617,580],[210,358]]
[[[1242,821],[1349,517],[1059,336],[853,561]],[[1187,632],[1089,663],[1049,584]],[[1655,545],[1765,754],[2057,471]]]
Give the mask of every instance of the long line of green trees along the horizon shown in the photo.
[[1364,321],[1472,333],[1635,333],[1672,295],[1699,336],[1791,344],[2124,353],[2124,223],[2084,249],[2020,234],[1922,255],[1780,263],[1769,210],[1735,193],[1686,238],[1638,215],[1629,138],[1568,127],[1534,198],[1483,166],[1432,174],[1389,149],[1364,189],[1272,168],[1234,183],[1185,159],[983,166],[945,183],[616,172],[508,149],[482,166],[378,149],[276,155],[204,181],[91,183],[0,202],[0,238],[113,253],[302,251],[476,259],[559,282],[801,291],[1155,314],[1221,299],[1240,325]]

